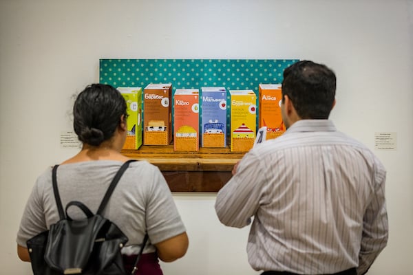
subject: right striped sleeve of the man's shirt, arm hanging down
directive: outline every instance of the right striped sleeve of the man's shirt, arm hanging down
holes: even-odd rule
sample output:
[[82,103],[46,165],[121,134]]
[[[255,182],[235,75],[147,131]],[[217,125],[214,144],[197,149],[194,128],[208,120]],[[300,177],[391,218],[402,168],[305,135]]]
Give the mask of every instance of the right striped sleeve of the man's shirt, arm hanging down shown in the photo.
[[388,215],[385,206],[385,170],[376,173],[372,201],[363,217],[363,235],[357,274],[366,274],[388,242]]

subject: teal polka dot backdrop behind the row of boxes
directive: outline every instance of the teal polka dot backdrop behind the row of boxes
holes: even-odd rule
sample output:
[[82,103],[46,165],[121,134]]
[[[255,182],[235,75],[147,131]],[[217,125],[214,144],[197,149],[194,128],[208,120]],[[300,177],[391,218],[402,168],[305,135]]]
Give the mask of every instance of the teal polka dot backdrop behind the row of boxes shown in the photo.
[[[99,82],[114,87],[142,87],[142,91],[149,83],[172,83],[172,94],[176,89],[200,90],[201,87],[225,87],[227,91],[251,89],[257,95],[258,106],[258,85],[282,83],[284,69],[297,61],[298,59],[100,59]],[[228,94],[228,108],[231,107],[229,100]],[[202,105],[200,110],[202,116]],[[229,114],[230,110],[227,109],[228,128]]]

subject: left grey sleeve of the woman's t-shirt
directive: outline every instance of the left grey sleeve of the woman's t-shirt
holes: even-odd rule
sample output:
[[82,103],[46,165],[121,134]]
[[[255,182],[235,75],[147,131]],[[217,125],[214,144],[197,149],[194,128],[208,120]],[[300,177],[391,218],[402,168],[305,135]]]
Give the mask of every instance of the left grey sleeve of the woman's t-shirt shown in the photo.
[[37,179],[21,217],[19,232],[17,232],[17,244],[26,247],[28,239],[47,230],[43,212],[42,192],[39,179]]

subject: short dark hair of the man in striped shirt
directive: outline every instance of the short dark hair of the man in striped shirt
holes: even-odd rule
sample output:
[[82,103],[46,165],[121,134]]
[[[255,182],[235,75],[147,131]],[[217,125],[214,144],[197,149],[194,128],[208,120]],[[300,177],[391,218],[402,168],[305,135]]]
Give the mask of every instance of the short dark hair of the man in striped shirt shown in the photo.
[[335,73],[326,65],[299,61],[284,70],[282,100],[287,95],[302,119],[327,119],[335,89]]

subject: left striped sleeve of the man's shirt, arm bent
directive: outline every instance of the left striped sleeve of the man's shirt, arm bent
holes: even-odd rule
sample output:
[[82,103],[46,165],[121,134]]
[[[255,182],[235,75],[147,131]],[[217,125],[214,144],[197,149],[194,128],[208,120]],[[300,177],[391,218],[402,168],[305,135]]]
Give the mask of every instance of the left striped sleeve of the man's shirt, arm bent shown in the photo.
[[258,157],[251,151],[246,153],[235,175],[218,192],[215,212],[221,223],[235,228],[251,223],[262,196],[262,174]]

